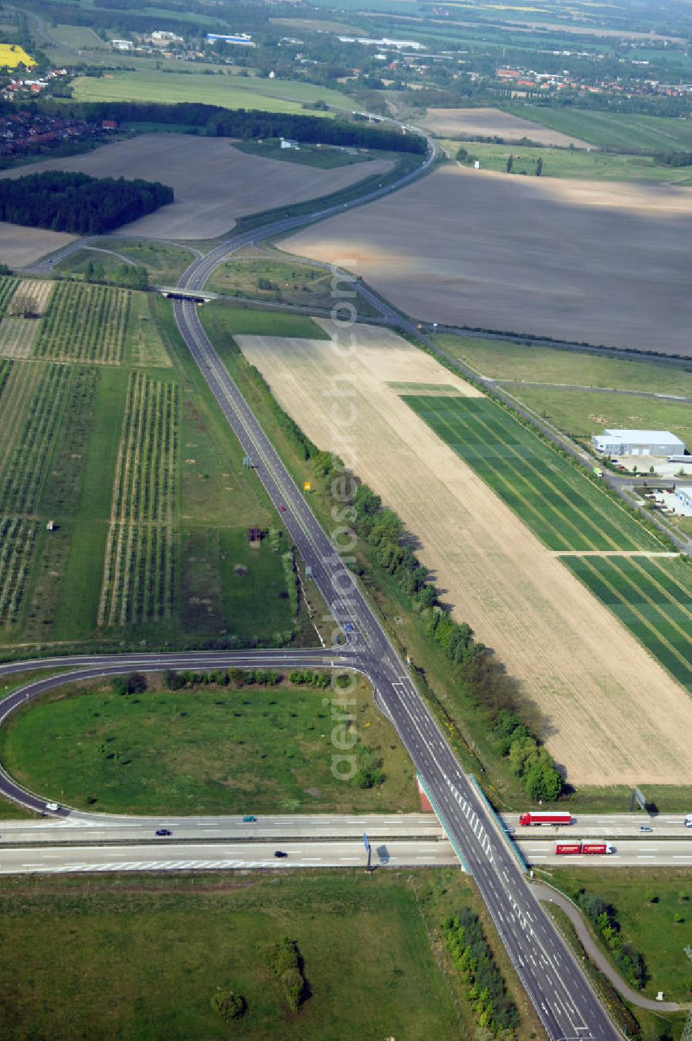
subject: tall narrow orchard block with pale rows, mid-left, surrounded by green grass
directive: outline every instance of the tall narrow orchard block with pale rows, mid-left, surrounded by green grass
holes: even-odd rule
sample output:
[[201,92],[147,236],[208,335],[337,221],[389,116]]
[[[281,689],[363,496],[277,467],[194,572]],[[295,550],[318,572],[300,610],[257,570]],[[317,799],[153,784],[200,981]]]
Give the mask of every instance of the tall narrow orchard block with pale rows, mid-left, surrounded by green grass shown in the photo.
[[173,616],[178,581],[180,392],[130,375],[106,538],[100,626]]

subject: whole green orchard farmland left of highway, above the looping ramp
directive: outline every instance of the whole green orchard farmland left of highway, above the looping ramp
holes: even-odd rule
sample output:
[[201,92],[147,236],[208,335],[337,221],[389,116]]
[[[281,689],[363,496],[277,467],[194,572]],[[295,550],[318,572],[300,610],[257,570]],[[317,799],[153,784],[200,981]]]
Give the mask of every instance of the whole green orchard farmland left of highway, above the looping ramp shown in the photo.
[[[0,644],[313,639],[287,595],[290,547],[180,346],[171,305],[74,283],[55,294],[53,332],[49,305],[34,354],[0,358]],[[87,306],[101,308],[100,326],[79,321]],[[241,314],[241,328],[258,327],[256,312]],[[67,335],[71,324],[91,330],[88,351]],[[93,363],[113,352],[118,364]],[[278,527],[276,550],[264,540],[249,553],[255,525]]]

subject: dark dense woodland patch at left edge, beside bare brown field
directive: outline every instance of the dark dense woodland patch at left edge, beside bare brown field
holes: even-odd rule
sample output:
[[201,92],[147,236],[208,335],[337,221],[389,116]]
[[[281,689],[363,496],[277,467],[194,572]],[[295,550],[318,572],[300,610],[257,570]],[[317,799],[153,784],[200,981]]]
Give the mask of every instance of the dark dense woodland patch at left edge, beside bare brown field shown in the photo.
[[0,221],[50,231],[101,234],[173,202],[158,181],[49,171],[0,180]]

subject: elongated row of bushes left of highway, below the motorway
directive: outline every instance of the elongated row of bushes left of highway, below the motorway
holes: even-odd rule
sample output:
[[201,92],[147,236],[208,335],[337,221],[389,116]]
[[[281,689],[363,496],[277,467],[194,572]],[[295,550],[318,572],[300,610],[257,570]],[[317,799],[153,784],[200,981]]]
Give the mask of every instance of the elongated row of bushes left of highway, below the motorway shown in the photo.
[[507,993],[478,916],[464,908],[445,919],[443,933],[452,962],[467,984],[466,996],[479,1026],[495,1035],[513,1034],[519,1025],[519,1013]]

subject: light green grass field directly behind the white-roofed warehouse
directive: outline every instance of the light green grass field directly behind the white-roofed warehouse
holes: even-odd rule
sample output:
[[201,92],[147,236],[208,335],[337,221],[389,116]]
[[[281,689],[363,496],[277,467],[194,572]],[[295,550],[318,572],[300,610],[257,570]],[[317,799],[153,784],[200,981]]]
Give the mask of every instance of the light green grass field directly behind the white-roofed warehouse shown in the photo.
[[[689,379],[689,377],[688,377]],[[692,445],[692,407],[685,402],[625,398],[592,390],[553,387],[512,387],[512,393],[561,430],[574,437],[590,437],[604,428],[670,430]],[[677,390],[683,393],[683,390]],[[642,467],[646,460],[642,459]]]

